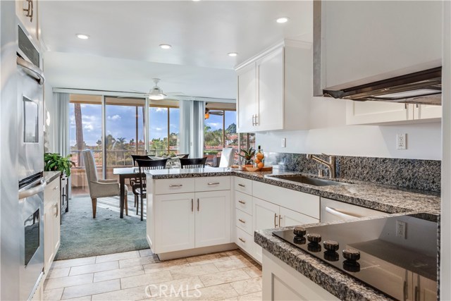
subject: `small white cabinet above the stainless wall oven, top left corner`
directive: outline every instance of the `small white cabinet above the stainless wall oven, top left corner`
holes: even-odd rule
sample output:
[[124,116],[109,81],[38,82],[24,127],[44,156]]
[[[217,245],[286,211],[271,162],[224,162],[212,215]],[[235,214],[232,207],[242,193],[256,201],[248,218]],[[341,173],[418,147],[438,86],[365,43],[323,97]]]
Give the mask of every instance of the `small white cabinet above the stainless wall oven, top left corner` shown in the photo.
[[16,0],[16,15],[35,42],[40,38],[37,6],[37,0]]

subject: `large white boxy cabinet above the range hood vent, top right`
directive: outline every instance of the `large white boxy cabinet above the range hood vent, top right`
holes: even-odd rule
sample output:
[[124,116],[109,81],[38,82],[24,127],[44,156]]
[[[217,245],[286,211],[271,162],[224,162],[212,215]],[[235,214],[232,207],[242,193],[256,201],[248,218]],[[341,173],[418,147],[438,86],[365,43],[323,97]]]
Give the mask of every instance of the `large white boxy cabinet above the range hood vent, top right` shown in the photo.
[[441,66],[440,1],[314,1],[314,94]]

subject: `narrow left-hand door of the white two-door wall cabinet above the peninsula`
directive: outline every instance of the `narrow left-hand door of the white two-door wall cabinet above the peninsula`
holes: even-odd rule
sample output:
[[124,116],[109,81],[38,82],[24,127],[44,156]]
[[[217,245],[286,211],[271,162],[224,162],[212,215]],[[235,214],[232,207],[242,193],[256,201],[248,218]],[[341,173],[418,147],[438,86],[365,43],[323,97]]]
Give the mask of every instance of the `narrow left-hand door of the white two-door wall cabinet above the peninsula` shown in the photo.
[[255,63],[238,71],[237,132],[254,131],[257,113],[257,73]]

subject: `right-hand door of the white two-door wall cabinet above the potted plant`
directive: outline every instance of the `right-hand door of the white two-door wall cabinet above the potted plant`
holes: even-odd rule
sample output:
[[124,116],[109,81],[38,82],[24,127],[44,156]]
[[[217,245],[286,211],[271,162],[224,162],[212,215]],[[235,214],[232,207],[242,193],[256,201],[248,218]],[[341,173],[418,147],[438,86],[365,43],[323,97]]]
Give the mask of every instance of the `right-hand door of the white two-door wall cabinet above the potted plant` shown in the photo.
[[283,129],[283,47],[257,61],[257,130]]

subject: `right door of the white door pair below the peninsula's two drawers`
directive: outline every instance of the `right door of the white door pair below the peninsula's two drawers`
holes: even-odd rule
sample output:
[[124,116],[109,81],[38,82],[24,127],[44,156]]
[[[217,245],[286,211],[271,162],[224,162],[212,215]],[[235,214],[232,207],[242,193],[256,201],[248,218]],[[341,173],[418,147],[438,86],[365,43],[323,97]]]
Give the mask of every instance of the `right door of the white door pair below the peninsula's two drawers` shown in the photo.
[[197,192],[195,247],[232,242],[230,236],[230,190]]

